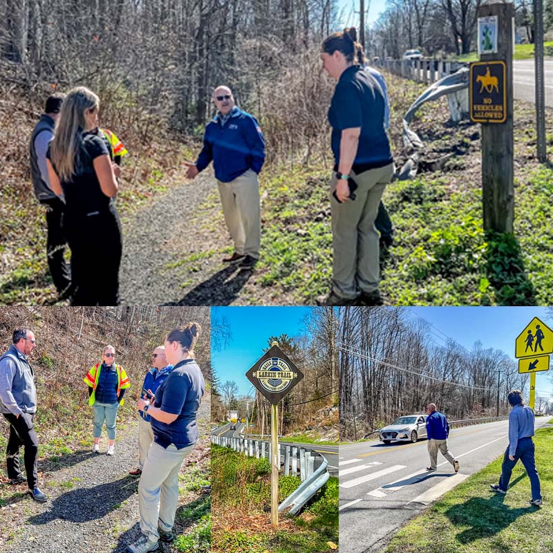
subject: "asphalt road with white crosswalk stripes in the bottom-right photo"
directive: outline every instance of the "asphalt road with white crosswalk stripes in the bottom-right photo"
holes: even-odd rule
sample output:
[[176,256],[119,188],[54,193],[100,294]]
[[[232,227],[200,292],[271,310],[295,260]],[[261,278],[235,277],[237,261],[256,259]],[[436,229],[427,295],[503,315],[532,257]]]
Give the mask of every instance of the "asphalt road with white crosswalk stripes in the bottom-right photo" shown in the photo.
[[[550,417],[536,418],[536,428],[548,420]],[[397,529],[424,507],[503,455],[509,442],[507,433],[507,420],[451,429],[448,444],[460,462],[458,474],[441,453],[438,470],[425,470],[429,466],[427,440],[340,446],[341,553],[382,550]]]

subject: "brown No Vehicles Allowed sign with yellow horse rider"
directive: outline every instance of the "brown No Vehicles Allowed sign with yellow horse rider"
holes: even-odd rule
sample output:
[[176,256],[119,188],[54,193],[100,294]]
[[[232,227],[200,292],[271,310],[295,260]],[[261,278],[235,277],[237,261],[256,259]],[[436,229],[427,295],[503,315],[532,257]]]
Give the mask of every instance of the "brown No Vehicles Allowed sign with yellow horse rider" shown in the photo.
[[470,67],[469,97],[471,120],[476,123],[503,123],[507,120],[505,62],[474,62]]

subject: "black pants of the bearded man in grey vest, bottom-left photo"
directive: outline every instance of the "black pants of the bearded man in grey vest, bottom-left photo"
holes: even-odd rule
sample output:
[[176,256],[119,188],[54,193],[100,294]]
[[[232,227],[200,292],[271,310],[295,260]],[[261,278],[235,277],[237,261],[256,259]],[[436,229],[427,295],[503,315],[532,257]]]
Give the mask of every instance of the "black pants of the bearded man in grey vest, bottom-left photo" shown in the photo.
[[8,478],[21,476],[19,467],[19,448],[24,446],[25,472],[29,489],[33,489],[38,483],[37,458],[39,453],[39,440],[32,425],[34,415],[21,413],[19,417],[12,413],[4,414],[10,423],[10,438],[6,447],[6,465],[8,465]]

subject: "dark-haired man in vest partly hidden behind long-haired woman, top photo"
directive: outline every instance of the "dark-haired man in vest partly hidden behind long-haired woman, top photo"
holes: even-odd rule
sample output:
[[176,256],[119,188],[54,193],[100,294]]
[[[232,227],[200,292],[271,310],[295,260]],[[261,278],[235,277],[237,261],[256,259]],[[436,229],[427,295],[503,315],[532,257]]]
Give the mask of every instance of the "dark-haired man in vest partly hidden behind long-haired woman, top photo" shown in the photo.
[[46,226],[48,227],[47,255],[48,268],[61,298],[69,295],[71,277],[64,259],[66,239],[62,232],[64,201],[50,188],[48,169],[46,169],[46,151],[48,143],[54,137],[55,121],[64,102],[64,94],[56,93],[46,100],[45,112],[32,131],[30,139],[30,174],[35,196],[46,206]]

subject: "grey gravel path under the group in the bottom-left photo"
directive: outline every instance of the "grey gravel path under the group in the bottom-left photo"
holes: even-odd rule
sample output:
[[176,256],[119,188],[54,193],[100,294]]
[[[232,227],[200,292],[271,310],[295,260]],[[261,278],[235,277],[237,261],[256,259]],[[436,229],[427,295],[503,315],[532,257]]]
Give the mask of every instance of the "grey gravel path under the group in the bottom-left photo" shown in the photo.
[[[205,447],[209,447],[209,404],[209,397],[204,398],[198,411],[200,442],[185,461],[183,472],[191,462],[205,457]],[[40,487],[49,500],[40,504],[26,496],[4,507],[12,509],[15,534],[7,551],[124,552],[126,545],[140,537],[138,478],[127,474],[138,463],[137,443],[138,422],[118,423],[115,456],[106,456],[103,435],[100,455],[87,448],[64,456],[59,469],[50,462],[39,463],[39,473],[44,471],[44,478],[39,475]],[[181,496],[180,503],[188,500]],[[160,544],[160,552],[176,552],[174,546]]]

